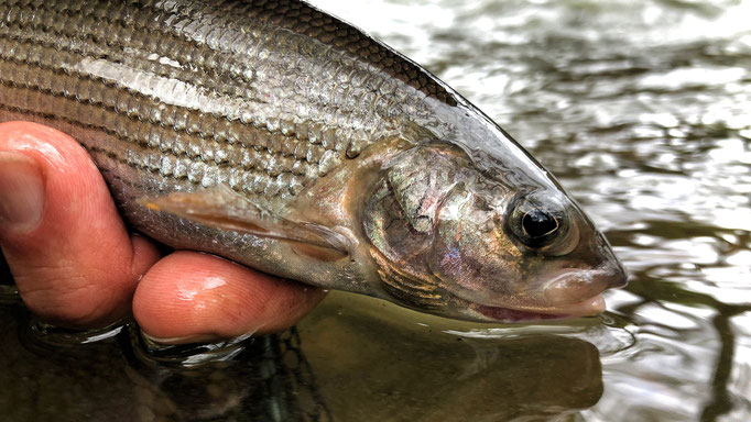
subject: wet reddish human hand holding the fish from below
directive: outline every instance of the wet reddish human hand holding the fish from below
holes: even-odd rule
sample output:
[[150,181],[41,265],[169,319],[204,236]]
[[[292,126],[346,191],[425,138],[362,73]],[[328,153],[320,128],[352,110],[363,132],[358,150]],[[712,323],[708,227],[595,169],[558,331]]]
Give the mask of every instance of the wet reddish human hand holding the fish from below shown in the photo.
[[128,233],[86,151],[28,122],[0,123],[0,247],[43,321],[94,329],[132,313],[163,343],[283,330],[325,295],[208,254],[160,256]]

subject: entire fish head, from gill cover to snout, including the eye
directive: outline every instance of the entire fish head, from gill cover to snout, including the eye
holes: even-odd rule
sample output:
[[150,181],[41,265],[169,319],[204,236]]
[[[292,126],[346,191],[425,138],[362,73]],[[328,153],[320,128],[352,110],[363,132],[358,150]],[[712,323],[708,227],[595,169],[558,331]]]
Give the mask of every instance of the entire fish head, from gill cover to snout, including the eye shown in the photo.
[[556,185],[510,182],[456,148],[421,146],[384,169],[364,208],[383,290],[477,321],[595,315],[625,285],[605,236]]

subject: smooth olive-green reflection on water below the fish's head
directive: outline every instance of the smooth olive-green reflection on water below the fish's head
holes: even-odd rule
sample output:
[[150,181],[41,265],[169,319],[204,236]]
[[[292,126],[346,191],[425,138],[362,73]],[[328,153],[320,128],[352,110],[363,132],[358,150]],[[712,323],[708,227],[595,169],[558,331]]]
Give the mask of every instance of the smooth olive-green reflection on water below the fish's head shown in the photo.
[[301,324],[337,420],[538,420],[586,409],[602,395],[599,353],[588,342],[458,337],[416,323],[428,320],[409,323],[391,306],[335,295]]

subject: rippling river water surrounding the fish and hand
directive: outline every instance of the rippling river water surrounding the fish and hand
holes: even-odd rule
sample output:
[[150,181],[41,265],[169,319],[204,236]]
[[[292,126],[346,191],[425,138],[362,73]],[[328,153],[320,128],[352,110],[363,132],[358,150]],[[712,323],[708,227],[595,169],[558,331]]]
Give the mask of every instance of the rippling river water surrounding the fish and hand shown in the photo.
[[[117,369],[101,377],[124,386],[96,398],[65,391],[79,404],[58,420],[84,408],[117,414],[126,390],[141,420],[751,419],[751,2],[316,3],[425,65],[516,137],[606,232],[630,285],[606,296],[599,318],[543,325],[454,322],[333,293],[300,324],[293,363],[261,347],[244,371],[219,378],[236,379],[216,389],[232,385],[224,397],[240,410],[200,400],[191,376],[165,382],[175,375],[154,365],[142,375],[143,359],[120,341]],[[17,357],[0,367],[64,374],[81,360],[40,360],[34,342],[18,341],[20,326],[3,332]],[[257,368],[259,355],[275,371]],[[2,385],[54,398],[55,384],[81,384],[69,374],[47,384],[7,375]],[[252,392],[274,374],[279,386]],[[143,390],[149,400],[132,392]],[[0,399],[0,413],[30,420],[35,406]]]

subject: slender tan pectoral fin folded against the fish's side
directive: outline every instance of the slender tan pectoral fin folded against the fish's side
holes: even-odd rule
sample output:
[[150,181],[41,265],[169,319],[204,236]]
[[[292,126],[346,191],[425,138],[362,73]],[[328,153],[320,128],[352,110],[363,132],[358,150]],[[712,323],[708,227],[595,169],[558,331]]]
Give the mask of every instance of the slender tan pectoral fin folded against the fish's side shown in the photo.
[[[141,198],[138,202],[151,210],[175,214],[211,227],[316,246],[330,249],[341,257],[349,255],[349,242],[345,235],[323,224],[275,215],[226,185],[194,192]],[[312,254],[315,255],[317,254]]]

